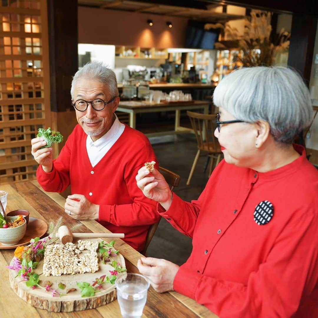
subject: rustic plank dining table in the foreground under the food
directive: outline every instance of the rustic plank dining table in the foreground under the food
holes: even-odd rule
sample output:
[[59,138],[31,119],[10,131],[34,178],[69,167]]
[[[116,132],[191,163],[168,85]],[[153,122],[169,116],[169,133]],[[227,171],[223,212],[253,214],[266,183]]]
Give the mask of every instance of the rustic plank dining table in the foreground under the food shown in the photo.
[[[64,212],[65,199],[58,193],[43,191],[37,181],[24,181],[0,185],[1,190],[8,192],[6,211],[25,209],[30,216],[49,223],[63,216],[63,224],[73,226],[79,221]],[[105,232],[105,228],[94,220],[81,221],[78,232]],[[115,239],[115,246],[124,256],[128,272],[139,272],[137,260],[141,254],[121,239]],[[0,250],[0,311],[2,317],[121,317],[117,300],[96,309],[72,313],[52,313],[27,304],[19,298],[10,287],[9,271],[5,267],[13,258],[12,250]],[[142,318],[147,317],[217,317],[206,307],[176,292],[157,293],[151,286]]]

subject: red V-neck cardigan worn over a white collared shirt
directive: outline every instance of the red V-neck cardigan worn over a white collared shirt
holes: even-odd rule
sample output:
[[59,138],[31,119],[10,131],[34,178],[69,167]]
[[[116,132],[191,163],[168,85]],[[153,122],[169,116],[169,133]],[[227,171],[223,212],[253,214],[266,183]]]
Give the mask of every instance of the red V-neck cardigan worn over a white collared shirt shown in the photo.
[[45,191],[62,192],[71,184],[72,194],[83,194],[100,205],[98,222],[113,233],[125,233],[124,241],[142,251],[150,224],[156,223],[156,202],[137,187],[135,176],[148,161],[158,160],[141,132],[127,125],[100,162],[92,167],[86,151],[87,135],[76,125],[67,138],[53,170],[40,165],[37,179]]

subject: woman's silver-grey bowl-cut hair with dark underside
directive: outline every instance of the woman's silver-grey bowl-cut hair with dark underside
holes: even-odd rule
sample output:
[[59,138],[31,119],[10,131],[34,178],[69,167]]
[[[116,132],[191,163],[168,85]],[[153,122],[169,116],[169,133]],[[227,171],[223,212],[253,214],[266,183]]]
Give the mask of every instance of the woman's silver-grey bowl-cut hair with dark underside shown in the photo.
[[265,120],[278,142],[290,144],[313,119],[310,93],[288,67],[242,68],[225,76],[213,102],[245,122]]

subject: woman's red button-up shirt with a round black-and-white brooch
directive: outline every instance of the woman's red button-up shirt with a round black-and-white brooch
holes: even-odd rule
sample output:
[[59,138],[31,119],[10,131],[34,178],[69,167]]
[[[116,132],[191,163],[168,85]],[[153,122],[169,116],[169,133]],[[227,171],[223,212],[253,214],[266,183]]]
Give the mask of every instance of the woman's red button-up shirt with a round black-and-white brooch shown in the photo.
[[[174,289],[222,318],[318,317],[318,171],[301,157],[258,173],[223,160],[197,201],[157,209],[193,238]],[[274,207],[254,221],[261,201]]]

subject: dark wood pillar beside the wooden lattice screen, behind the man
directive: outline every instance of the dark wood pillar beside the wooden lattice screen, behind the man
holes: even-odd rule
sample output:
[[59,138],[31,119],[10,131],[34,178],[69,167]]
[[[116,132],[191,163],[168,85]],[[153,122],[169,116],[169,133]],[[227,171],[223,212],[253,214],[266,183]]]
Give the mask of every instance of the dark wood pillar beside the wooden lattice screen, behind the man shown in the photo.
[[48,0],[51,110],[70,108],[72,76],[78,70],[77,0]]

